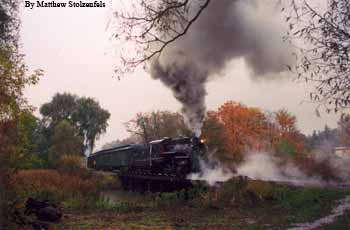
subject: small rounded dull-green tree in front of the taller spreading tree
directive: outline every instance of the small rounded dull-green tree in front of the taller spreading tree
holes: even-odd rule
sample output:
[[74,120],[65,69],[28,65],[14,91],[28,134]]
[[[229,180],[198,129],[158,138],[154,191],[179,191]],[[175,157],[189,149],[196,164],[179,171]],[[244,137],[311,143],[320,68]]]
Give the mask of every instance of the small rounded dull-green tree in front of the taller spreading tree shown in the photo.
[[61,156],[81,156],[83,139],[78,135],[75,128],[65,120],[60,121],[54,128],[52,145],[49,150],[49,165],[57,167]]

